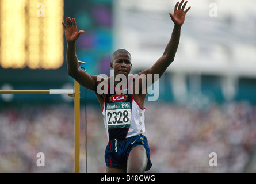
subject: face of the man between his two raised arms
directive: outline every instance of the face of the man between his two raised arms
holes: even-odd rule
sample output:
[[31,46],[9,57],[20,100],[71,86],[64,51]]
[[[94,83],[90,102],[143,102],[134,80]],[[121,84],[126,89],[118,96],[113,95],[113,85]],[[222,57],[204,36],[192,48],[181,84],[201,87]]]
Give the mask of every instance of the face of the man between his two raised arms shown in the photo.
[[128,53],[117,52],[110,63],[110,68],[114,69],[114,76],[124,74],[128,77],[132,69],[131,55]]

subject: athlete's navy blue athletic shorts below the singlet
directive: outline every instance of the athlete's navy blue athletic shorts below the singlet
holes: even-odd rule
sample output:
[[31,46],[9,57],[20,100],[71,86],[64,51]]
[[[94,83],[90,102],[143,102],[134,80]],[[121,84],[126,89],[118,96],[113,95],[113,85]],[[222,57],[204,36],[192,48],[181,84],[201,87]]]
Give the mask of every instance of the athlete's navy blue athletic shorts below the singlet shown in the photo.
[[147,152],[148,163],[145,171],[150,170],[152,163],[150,161],[150,147],[147,137],[140,134],[127,139],[109,140],[105,151],[106,166],[113,168],[127,168],[127,159],[130,151],[137,145],[144,145]]

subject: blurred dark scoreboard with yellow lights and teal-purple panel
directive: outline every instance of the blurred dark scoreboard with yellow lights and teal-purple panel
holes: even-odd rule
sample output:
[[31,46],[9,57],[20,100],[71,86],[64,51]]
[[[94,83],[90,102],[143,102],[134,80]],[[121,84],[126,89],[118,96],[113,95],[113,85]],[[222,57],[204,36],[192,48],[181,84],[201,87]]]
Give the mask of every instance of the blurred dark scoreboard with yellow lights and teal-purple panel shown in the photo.
[[109,74],[112,0],[0,0],[0,90],[72,87],[62,26],[66,17],[85,30],[77,40],[77,56],[86,71]]

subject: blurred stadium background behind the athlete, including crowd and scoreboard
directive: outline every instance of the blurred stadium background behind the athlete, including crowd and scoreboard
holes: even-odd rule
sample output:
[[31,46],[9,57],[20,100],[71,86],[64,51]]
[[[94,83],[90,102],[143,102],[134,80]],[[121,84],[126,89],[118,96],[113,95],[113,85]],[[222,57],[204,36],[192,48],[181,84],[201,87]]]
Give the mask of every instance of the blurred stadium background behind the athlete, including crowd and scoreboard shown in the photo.
[[[62,21],[85,33],[78,59],[110,75],[113,51],[132,74],[154,64],[170,40],[174,0],[0,0],[0,90],[74,89]],[[256,2],[190,0],[174,62],[146,101],[148,172],[256,171]],[[86,112],[86,113],[85,113]],[[105,172],[108,143],[95,94],[81,87],[81,172]],[[45,154],[38,167],[36,155]],[[209,154],[217,166],[209,166]],[[74,99],[0,94],[0,172],[74,172]]]

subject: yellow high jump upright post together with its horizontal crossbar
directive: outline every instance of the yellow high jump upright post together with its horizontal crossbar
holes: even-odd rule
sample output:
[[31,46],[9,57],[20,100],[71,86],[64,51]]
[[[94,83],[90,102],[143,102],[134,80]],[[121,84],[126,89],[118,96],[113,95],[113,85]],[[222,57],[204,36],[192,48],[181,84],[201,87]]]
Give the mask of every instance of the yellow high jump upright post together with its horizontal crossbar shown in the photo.
[[[85,62],[79,61],[79,66]],[[75,134],[75,173],[80,172],[80,85],[74,80],[72,89],[52,89],[52,90],[0,90],[0,94],[68,94],[74,97],[74,134]]]

